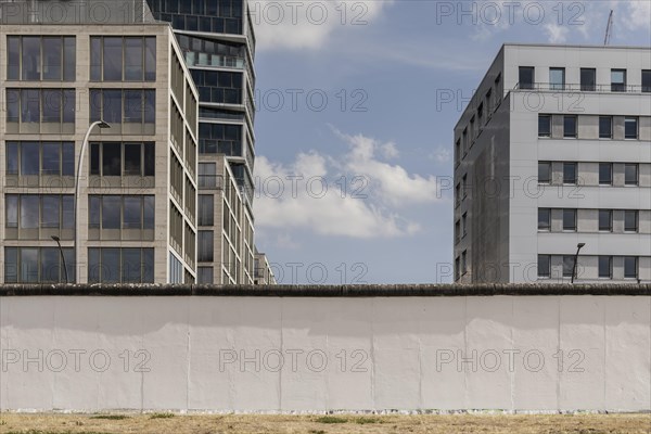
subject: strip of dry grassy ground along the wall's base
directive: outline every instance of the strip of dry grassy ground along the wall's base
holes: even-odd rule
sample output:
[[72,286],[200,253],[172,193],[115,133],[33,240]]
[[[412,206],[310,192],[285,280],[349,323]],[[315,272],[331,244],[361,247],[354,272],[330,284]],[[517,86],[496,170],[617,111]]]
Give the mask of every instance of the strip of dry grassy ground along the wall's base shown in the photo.
[[175,416],[0,414],[28,434],[651,434],[651,414]]

